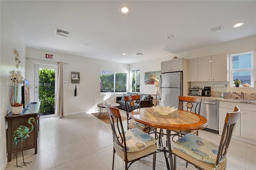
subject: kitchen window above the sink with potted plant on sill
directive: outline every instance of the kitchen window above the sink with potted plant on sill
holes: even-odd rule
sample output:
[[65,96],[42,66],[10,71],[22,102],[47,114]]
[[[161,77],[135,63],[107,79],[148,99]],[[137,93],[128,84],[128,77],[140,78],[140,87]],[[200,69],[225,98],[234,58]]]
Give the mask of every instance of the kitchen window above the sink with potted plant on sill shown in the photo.
[[[240,53],[230,55],[231,57],[231,79],[241,80],[242,84],[248,83],[251,87],[254,85],[254,65],[253,65],[253,52]],[[233,83],[230,83],[231,87],[235,86]],[[240,85],[242,86],[242,85]]]

